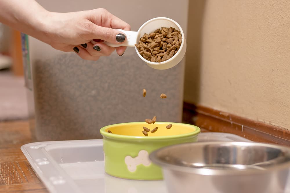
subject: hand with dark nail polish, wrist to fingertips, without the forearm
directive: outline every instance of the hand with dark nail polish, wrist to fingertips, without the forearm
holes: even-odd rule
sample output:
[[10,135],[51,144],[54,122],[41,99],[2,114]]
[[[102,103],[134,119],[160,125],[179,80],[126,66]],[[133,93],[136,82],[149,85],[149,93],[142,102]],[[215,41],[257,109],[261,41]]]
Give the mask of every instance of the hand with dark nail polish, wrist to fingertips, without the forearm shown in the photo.
[[126,22],[117,18],[105,9],[89,11],[55,13],[48,12],[38,39],[64,52],[75,52],[86,60],[98,60],[100,56],[109,56],[115,49],[122,56],[126,47],[109,47],[99,41],[90,43],[93,39],[121,44],[126,36],[118,30],[131,30]]

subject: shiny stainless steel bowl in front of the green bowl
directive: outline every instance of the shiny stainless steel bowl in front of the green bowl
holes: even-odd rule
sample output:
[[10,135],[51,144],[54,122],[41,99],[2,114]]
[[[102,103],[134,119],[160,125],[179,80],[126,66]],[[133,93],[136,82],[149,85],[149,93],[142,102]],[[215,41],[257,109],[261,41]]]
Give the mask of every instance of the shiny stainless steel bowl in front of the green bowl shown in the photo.
[[255,142],[198,142],[150,154],[170,193],[282,193],[290,148]]

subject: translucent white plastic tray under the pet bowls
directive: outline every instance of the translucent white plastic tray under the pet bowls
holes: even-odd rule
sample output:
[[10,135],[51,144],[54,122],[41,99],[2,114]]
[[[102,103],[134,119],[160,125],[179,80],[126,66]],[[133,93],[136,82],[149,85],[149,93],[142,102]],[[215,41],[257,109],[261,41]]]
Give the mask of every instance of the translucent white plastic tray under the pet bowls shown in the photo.
[[[249,140],[229,133],[201,133],[198,141]],[[51,193],[167,193],[162,180],[126,180],[105,174],[102,139],[35,142],[21,150]]]

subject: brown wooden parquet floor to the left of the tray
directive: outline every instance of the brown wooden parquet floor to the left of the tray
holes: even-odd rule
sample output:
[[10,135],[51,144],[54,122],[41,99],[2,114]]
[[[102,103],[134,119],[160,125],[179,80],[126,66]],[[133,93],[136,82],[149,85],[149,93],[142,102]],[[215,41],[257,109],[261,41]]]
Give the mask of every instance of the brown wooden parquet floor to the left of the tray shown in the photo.
[[32,142],[29,122],[0,122],[0,193],[48,193],[20,150]]

